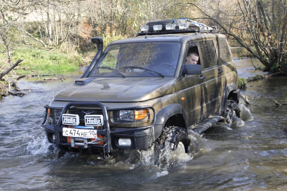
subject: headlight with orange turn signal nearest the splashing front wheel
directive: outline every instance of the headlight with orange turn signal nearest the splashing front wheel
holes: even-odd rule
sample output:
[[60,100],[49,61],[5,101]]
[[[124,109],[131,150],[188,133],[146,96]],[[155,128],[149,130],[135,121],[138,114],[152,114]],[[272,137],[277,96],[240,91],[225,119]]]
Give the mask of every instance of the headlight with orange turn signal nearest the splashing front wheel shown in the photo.
[[147,117],[147,109],[120,110],[116,112],[115,121],[139,121]]

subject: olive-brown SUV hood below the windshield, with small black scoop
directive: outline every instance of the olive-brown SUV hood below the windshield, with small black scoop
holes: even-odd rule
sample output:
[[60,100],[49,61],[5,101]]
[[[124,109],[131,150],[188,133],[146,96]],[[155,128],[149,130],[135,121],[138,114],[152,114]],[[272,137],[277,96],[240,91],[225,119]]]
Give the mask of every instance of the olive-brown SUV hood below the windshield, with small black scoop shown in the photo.
[[69,85],[54,100],[59,101],[144,101],[170,94],[174,77],[82,78],[84,85]]

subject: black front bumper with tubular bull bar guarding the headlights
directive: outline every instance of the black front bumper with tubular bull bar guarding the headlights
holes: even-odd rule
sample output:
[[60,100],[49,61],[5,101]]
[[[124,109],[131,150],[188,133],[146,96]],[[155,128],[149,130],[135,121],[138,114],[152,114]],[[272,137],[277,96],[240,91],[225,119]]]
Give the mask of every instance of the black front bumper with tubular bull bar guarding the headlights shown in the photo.
[[[88,144],[85,145],[87,141],[80,141],[78,145],[75,146],[67,140],[67,137],[62,136],[62,128],[67,127],[67,125],[62,124],[62,114],[67,113],[70,107],[100,107],[103,111],[103,126],[97,128],[98,135],[102,136],[104,141],[103,144]],[[154,140],[154,124],[155,124],[155,110],[150,106],[144,107],[129,107],[129,108],[117,108],[117,109],[107,109],[105,105],[100,102],[70,102],[62,108],[49,107],[45,106],[45,118],[41,124],[44,127],[48,141],[54,143],[55,146],[61,150],[68,152],[80,152],[80,153],[116,153],[119,150],[124,149],[140,149],[146,150],[150,145],[151,141]],[[109,124],[109,111],[115,110],[135,110],[148,108],[151,110],[152,118],[149,118],[151,121],[149,125],[144,127],[128,127],[128,128],[119,128],[119,127],[110,127]],[[59,116],[58,121],[56,122],[56,117],[53,117],[54,126],[46,123],[48,109],[61,109],[62,113]],[[135,122],[135,121],[132,121]],[[54,135],[54,138],[53,138]],[[118,144],[119,138],[129,138],[131,140],[130,146],[120,146]],[[90,140],[88,140],[90,141]]]

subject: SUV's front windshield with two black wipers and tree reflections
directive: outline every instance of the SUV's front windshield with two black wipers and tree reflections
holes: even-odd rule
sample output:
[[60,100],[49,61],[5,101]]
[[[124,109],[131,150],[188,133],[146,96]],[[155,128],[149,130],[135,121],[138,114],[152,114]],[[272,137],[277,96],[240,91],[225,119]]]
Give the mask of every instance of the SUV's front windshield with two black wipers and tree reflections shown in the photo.
[[110,45],[91,76],[173,76],[181,43],[151,42]]

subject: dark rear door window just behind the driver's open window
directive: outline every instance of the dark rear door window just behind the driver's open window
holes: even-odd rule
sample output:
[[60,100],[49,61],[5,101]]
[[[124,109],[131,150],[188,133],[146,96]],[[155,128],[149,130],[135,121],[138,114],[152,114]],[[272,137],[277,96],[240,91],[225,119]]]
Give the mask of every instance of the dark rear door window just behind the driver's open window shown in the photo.
[[217,66],[218,61],[215,53],[215,49],[213,46],[213,41],[203,41],[199,42],[201,55],[202,55],[202,62],[204,65],[204,69]]

